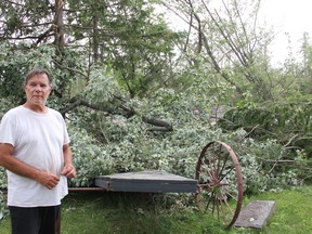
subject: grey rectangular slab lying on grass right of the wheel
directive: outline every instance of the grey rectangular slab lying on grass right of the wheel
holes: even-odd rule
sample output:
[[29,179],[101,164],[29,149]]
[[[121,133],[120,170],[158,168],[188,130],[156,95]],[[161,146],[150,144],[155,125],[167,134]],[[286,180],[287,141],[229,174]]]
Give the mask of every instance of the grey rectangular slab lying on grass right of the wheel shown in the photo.
[[273,200],[255,200],[239,212],[234,223],[237,227],[262,229],[276,209]]

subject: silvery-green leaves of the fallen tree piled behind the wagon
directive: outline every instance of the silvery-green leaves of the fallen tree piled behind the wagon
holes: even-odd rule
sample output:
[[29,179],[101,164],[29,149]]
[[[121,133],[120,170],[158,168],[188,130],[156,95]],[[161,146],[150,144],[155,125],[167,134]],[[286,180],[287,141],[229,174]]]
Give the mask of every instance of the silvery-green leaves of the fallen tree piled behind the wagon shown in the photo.
[[[132,103],[139,113],[153,113],[171,122],[174,129],[172,132],[148,131],[148,125],[142,125],[140,116],[126,119],[120,116],[98,115],[94,129],[99,129],[102,134],[100,138],[99,133],[98,139],[92,139],[90,132],[88,136],[84,131],[80,135],[81,131],[70,125],[72,131],[75,129],[76,132],[72,135],[74,152],[86,154],[75,159],[79,176],[72,181],[72,185],[92,185],[93,181],[90,179],[96,174],[143,169],[161,169],[194,178],[199,153],[210,141],[227,142],[237,152],[244,171],[245,188],[250,193],[298,184],[295,170],[273,170],[273,164],[263,165],[265,159],[287,158],[290,152],[274,140],[256,142],[246,138],[247,132],[242,128],[227,133],[222,131],[214,118],[211,118],[216,117],[216,110],[211,106],[218,108],[217,100],[222,100],[222,92],[217,92],[217,99],[204,100],[198,98],[200,87],[202,82],[195,82],[183,93],[162,89],[148,100]],[[224,87],[220,87],[220,91]],[[209,88],[205,91],[209,92]],[[226,94],[229,93],[224,93]],[[106,143],[99,146],[96,142],[104,139]],[[292,157],[297,157],[296,155]]]

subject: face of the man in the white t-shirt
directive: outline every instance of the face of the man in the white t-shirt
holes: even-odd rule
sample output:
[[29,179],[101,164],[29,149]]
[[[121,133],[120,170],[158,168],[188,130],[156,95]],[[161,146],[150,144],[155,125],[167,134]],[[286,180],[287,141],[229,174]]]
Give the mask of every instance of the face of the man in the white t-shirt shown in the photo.
[[32,105],[46,105],[52,91],[47,74],[38,74],[28,79],[25,88],[27,102]]

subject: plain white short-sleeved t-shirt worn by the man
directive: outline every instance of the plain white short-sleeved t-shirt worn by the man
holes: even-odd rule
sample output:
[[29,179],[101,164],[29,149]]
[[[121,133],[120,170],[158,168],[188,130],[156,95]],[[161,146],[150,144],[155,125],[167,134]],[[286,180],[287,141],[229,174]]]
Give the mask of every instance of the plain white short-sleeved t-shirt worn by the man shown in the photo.
[[49,108],[39,114],[24,106],[9,110],[1,119],[0,142],[12,144],[14,157],[60,178],[49,190],[32,179],[6,170],[8,205],[18,207],[57,206],[68,194],[67,179],[61,176],[64,166],[63,145],[69,143],[62,115]]

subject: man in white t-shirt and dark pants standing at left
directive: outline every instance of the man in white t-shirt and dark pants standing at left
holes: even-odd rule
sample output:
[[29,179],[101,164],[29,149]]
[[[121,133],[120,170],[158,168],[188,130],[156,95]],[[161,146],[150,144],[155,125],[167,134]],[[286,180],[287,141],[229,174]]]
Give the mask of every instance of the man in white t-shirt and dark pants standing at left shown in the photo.
[[52,91],[48,70],[32,69],[24,90],[26,103],[10,109],[0,125],[12,234],[55,234],[67,178],[76,176],[69,138],[62,115],[46,106]]

